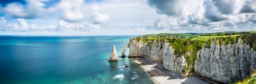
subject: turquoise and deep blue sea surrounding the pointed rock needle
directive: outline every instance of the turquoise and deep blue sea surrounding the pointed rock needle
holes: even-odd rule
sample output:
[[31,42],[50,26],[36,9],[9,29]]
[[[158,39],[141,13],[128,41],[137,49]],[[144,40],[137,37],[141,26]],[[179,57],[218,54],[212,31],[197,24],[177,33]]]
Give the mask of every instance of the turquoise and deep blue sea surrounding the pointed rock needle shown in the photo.
[[[0,36],[0,84],[151,84],[129,49],[120,57],[134,37]],[[113,45],[122,61],[108,62]]]

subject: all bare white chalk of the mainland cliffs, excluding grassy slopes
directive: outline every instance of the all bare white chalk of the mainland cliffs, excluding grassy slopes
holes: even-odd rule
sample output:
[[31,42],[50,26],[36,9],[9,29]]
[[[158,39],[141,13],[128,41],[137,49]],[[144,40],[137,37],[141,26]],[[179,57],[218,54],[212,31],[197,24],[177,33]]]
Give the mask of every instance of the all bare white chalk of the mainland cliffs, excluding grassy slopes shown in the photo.
[[210,48],[202,48],[197,52],[194,68],[188,66],[185,60],[190,53],[175,55],[175,49],[167,41],[161,43],[154,40],[152,43],[145,43],[143,40],[135,40],[130,39],[130,44],[125,46],[130,49],[129,58],[146,57],[162,63],[163,68],[182,77],[189,76],[189,70],[194,69],[195,75],[213,81],[212,83],[232,83],[243,80],[256,70],[256,51],[240,39],[237,43],[221,46],[212,41]]

